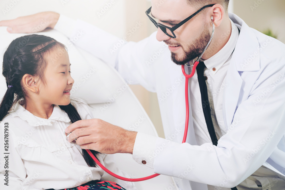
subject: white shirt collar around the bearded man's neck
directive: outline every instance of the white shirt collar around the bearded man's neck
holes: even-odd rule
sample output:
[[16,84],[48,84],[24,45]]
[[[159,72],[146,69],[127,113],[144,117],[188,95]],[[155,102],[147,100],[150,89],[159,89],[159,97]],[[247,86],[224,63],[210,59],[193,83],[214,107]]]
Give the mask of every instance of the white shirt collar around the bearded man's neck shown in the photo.
[[239,38],[239,31],[237,26],[233,23],[231,19],[230,22],[231,22],[231,36],[228,42],[215,55],[213,55],[207,60],[203,60],[207,69],[209,69],[213,74],[217,73],[219,68],[221,68],[221,66],[229,59],[229,57],[231,56],[231,54],[235,49],[235,46],[237,44],[237,39]]

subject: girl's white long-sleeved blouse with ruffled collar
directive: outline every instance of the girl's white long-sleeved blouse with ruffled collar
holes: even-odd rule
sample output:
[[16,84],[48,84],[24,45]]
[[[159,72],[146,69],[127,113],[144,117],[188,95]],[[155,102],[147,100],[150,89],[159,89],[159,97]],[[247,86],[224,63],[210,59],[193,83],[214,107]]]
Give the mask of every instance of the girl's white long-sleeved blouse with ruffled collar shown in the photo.
[[[90,107],[82,99],[73,99],[76,101],[71,100],[72,105],[77,109],[82,120],[94,118]],[[8,151],[4,149],[5,123],[6,125],[8,123],[9,128]],[[0,189],[65,189],[91,180],[108,180],[102,178],[104,171],[101,168],[89,167],[86,164],[79,145],[66,140],[64,130],[71,123],[67,113],[58,105],[54,105],[48,119],[43,119],[25,110],[18,101],[15,108],[0,122],[0,152],[2,153]],[[8,152],[9,154],[4,154]],[[3,155],[8,155],[9,158],[9,186],[4,185],[6,183],[4,174],[7,169],[4,168]],[[105,156],[105,154],[97,156],[103,165]],[[110,167],[113,165],[113,163],[110,164]],[[110,169],[118,171],[116,168]],[[123,175],[126,174],[123,173]],[[114,182],[126,189],[134,187],[134,183],[131,182],[121,180]]]

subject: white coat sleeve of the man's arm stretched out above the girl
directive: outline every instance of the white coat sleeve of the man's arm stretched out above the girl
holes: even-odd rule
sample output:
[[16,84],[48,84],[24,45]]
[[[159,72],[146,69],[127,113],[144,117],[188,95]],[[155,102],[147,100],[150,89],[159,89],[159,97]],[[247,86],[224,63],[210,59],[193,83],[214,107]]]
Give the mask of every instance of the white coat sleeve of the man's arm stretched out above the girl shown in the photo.
[[164,42],[155,39],[155,33],[139,42],[127,42],[92,24],[60,15],[54,26],[71,42],[115,68],[126,81],[140,84],[155,92],[155,73],[151,66],[153,56],[160,55]]

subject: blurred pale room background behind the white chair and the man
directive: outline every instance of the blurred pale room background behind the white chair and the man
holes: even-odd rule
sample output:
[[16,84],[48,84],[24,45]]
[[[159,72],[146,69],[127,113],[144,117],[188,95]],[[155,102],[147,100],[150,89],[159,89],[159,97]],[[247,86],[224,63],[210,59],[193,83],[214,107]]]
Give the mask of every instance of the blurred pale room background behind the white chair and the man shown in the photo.
[[[137,42],[157,30],[144,13],[150,6],[148,0],[1,0],[0,20],[54,11]],[[229,12],[241,17],[250,27],[285,43],[285,0],[230,0]],[[141,23],[139,28],[135,28],[137,22]],[[156,93],[148,92],[140,85],[130,87],[158,135],[164,137]]]

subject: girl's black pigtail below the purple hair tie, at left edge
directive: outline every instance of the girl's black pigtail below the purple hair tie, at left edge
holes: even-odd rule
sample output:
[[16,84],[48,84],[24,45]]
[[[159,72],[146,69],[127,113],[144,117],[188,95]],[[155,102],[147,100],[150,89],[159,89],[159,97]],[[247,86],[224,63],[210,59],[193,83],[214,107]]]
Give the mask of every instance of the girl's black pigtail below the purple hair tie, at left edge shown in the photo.
[[14,102],[14,89],[13,86],[8,85],[8,89],[2,98],[0,104],[0,121],[7,115]]

